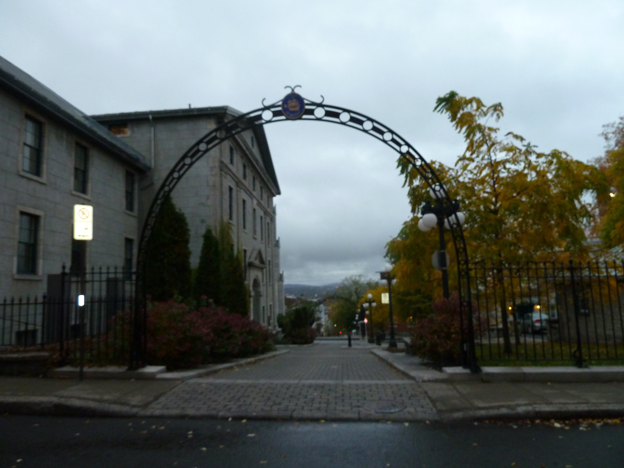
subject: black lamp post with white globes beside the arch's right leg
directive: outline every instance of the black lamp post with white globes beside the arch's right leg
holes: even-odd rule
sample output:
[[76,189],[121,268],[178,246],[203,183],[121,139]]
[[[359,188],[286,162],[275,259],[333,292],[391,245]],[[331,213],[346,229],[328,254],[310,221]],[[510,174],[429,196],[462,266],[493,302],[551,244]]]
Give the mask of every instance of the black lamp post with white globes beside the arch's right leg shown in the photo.
[[434,188],[429,189],[431,197],[436,200],[436,205],[432,205],[427,200],[421,208],[422,218],[418,222],[418,228],[422,232],[427,232],[431,228],[437,225],[439,234],[440,250],[437,251],[437,266],[442,271],[442,294],[445,298],[449,298],[449,270],[446,258],[446,241],[444,241],[444,228],[451,228],[450,223],[452,217],[457,216],[459,224],[463,225],[466,221],[464,213],[459,211],[459,202],[452,200],[448,202],[446,198],[442,198],[442,191],[439,185],[434,185]]

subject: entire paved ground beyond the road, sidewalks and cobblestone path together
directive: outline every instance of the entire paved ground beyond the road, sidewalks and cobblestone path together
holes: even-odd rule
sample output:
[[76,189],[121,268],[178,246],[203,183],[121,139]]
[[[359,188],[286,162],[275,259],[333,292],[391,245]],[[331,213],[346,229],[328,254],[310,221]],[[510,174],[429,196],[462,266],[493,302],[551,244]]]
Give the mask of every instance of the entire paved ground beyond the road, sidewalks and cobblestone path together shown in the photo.
[[0,377],[0,412],[349,421],[624,416],[624,383],[484,382],[368,343],[287,348],[164,378]]

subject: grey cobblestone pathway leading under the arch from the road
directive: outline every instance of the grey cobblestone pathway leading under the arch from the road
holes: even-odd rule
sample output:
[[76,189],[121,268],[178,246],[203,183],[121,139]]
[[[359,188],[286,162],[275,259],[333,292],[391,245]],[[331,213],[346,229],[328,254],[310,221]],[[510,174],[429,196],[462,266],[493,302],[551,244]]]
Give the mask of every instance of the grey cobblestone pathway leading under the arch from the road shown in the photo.
[[292,346],[290,352],[206,378],[190,379],[144,411],[170,416],[271,419],[435,419],[419,384],[366,345]]

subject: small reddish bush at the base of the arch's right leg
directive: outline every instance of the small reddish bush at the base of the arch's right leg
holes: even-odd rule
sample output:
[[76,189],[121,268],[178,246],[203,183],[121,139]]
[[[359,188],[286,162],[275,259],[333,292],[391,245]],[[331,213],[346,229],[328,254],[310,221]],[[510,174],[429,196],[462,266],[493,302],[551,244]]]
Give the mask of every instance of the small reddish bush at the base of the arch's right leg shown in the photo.
[[461,330],[459,328],[459,296],[432,303],[433,314],[414,321],[411,337],[412,352],[438,365],[459,363]]

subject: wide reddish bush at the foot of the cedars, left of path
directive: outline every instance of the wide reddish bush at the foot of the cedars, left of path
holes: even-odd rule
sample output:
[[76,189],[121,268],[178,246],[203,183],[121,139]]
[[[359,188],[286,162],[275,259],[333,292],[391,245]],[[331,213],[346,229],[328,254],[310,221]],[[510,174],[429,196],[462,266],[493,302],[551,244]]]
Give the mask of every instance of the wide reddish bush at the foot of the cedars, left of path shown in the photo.
[[191,310],[175,301],[150,305],[147,333],[149,363],[168,369],[265,353],[273,347],[269,331],[247,317],[223,308]]

